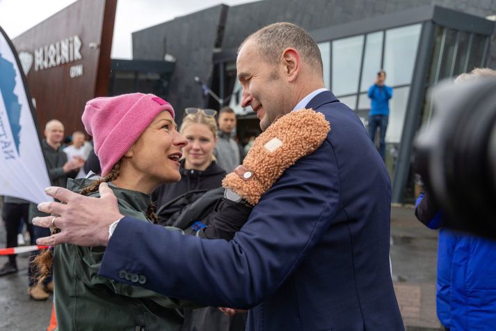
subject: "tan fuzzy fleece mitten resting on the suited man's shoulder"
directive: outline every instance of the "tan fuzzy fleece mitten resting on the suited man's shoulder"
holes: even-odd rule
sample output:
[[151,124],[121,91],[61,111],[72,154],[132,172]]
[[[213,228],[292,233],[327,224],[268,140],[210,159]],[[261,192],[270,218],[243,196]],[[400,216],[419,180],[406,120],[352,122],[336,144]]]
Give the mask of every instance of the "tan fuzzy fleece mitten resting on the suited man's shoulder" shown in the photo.
[[323,114],[313,109],[291,111],[255,139],[243,166],[225,176],[223,187],[257,204],[288,167],[321,146],[329,130]]

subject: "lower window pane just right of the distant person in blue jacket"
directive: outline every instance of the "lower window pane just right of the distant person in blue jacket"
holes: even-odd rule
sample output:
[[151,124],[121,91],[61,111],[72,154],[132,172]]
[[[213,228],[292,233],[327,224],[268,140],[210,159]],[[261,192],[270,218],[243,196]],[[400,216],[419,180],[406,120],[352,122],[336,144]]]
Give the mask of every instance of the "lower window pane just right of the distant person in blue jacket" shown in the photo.
[[390,118],[387,124],[386,142],[399,143],[403,133],[403,122],[405,121],[406,103],[410,94],[410,86],[394,88],[390,100]]

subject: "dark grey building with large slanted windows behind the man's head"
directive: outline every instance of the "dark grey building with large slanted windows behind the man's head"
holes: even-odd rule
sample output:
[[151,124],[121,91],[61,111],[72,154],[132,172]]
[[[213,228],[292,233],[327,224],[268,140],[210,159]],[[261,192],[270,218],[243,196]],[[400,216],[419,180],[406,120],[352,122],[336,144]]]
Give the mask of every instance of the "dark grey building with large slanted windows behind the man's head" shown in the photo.
[[[184,107],[230,105],[239,117],[241,140],[257,130],[253,111],[239,106],[236,52],[262,26],[292,22],[319,43],[324,80],[367,125],[367,88],[376,72],[387,72],[394,87],[387,129],[386,165],[393,201],[412,201],[412,146],[419,126],[429,121],[429,86],[474,67],[496,67],[496,0],[265,0],[219,5],[133,33],[134,59],[173,56],[168,99]],[[205,97],[198,76],[220,98]],[[365,167],[366,165],[364,165]]]

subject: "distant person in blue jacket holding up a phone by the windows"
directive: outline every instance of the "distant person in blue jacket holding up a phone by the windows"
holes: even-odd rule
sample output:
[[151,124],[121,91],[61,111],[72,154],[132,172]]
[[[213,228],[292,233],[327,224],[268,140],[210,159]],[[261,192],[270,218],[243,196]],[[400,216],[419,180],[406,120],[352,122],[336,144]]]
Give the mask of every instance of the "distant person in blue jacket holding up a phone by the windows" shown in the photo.
[[379,154],[385,160],[386,149],[386,130],[390,116],[390,99],[392,98],[392,87],[384,84],[386,72],[381,70],[377,72],[377,77],[374,85],[369,88],[369,98],[371,100],[369,112],[369,137],[371,141],[375,141],[376,132],[379,130]]

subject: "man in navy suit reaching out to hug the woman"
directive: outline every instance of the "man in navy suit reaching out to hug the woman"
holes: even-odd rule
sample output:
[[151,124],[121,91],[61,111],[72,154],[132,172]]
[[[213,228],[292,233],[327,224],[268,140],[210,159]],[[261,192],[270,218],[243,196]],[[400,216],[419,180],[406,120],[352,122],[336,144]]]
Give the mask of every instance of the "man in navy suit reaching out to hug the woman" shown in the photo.
[[[248,330],[403,330],[389,265],[390,179],[360,119],[324,88],[317,44],[294,24],[271,24],[243,42],[237,74],[241,105],[253,108],[262,130],[303,107],[323,113],[331,129],[264,194],[233,240],[121,219],[102,184],[100,199],[48,190],[67,204],[39,207],[61,215],[61,233],[38,243],[106,245],[100,275],[250,309]],[[49,226],[51,218],[34,222]]]

